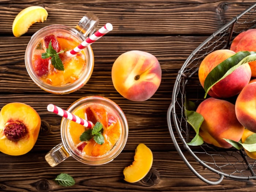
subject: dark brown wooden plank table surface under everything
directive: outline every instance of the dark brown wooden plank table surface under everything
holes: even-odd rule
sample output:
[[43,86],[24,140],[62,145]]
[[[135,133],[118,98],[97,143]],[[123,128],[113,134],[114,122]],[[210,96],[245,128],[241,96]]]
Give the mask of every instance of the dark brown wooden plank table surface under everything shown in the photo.
[[[173,85],[187,57],[209,35],[254,3],[255,0],[1,0],[0,108],[10,102],[26,103],[40,115],[42,128],[29,153],[20,156],[0,153],[0,191],[255,191],[254,180],[224,178],[220,184],[209,185],[197,178],[177,153],[166,120]],[[31,5],[44,7],[48,18],[16,38],[12,34],[12,22],[18,12]],[[99,17],[99,26],[106,22],[113,25],[113,31],[92,44],[93,74],[75,93],[47,93],[26,71],[24,55],[30,37],[52,24],[74,27],[88,11]],[[161,64],[161,85],[147,101],[129,101],[114,89],[112,64],[129,50],[149,52]],[[50,167],[44,157],[61,142],[61,117],[48,112],[46,106],[54,103],[67,109],[72,102],[87,95],[108,97],[123,109],[129,124],[124,150],[105,165],[84,165],[69,157],[56,167]],[[124,181],[123,169],[132,163],[139,143],[152,150],[153,166],[147,178],[128,183]],[[198,163],[193,165],[208,180],[218,179],[215,173]],[[76,184],[67,188],[57,185],[53,179],[60,173],[70,174]]]

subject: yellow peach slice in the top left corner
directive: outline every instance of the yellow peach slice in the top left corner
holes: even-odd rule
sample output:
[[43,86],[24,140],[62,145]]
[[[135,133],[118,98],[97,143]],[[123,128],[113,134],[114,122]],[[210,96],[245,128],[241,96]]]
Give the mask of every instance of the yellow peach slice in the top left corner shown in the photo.
[[25,34],[31,25],[36,22],[44,22],[48,16],[48,12],[44,7],[31,6],[23,9],[15,17],[12,23],[12,33],[15,37]]

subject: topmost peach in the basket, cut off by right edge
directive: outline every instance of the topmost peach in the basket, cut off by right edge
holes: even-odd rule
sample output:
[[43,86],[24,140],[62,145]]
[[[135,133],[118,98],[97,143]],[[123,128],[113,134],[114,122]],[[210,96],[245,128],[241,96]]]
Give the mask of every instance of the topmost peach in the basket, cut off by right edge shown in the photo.
[[[249,29],[238,34],[230,45],[230,50],[256,51],[256,29]],[[252,77],[256,77],[256,61],[249,62],[252,70]]]

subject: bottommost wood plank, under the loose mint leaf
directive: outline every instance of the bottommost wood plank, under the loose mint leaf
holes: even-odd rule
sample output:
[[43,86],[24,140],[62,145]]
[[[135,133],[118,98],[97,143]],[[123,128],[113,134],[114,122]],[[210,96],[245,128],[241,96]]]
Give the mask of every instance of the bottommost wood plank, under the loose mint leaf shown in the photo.
[[[22,155],[11,157],[0,154],[1,174],[0,187],[3,191],[95,191],[101,188],[102,191],[212,191],[212,185],[206,185],[199,180],[187,166],[181,161],[175,152],[155,152],[154,162],[150,174],[146,179],[129,184],[123,180],[121,172],[125,166],[132,163],[134,153],[121,153],[116,159],[106,165],[89,166],[83,165],[69,157],[58,167],[47,166],[45,153],[29,152],[29,157]],[[191,159],[192,160],[192,159]],[[12,162],[10,165],[9,162]],[[215,173],[192,163],[195,169],[206,179],[216,181],[219,177]],[[104,171],[104,175],[102,174]],[[65,172],[74,177],[75,187],[63,188],[56,185],[53,179]],[[81,173],[84,173],[81,175]],[[23,175],[26,174],[26,177]],[[37,176],[36,176],[37,175]],[[118,185],[117,185],[118,184]],[[44,189],[44,190],[43,190]],[[214,185],[214,191],[255,191],[255,181],[246,182],[224,178],[221,184]]]

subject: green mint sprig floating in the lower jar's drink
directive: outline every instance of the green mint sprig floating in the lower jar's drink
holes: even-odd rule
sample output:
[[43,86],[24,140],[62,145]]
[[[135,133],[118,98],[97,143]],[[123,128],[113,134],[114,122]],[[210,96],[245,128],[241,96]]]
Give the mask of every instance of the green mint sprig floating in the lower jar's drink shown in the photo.
[[102,130],[102,124],[97,122],[94,125],[93,129],[88,129],[84,131],[79,139],[80,141],[88,141],[91,138],[93,138],[96,143],[102,145],[104,143],[104,137],[101,133],[101,130]]

